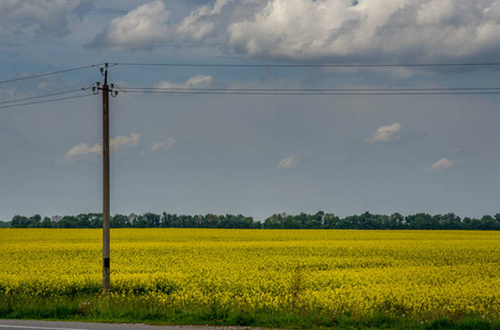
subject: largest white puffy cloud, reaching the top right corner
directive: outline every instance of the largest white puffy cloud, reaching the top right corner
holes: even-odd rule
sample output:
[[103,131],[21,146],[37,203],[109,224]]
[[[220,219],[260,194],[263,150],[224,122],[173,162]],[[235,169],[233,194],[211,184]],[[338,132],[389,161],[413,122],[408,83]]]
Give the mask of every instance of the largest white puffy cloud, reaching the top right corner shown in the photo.
[[270,0],[228,26],[250,56],[421,62],[494,55],[500,0]]

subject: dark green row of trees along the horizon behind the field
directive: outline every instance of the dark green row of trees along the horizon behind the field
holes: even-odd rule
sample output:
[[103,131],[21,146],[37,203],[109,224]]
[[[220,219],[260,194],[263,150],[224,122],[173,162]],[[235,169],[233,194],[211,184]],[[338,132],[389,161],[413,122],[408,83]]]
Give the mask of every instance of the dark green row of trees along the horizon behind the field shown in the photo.
[[[40,215],[32,217],[14,216],[12,221],[0,221],[0,228],[102,228],[102,213],[80,213],[52,218]],[[339,218],[334,213],[318,211],[314,215],[275,213],[263,222],[242,215],[206,216],[172,215],[115,215],[110,218],[111,228],[225,228],[225,229],[392,229],[392,230],[500,230],[500,213],[477,218],[460,218],[455,213],[415,213],[403,216],[372,215]]]

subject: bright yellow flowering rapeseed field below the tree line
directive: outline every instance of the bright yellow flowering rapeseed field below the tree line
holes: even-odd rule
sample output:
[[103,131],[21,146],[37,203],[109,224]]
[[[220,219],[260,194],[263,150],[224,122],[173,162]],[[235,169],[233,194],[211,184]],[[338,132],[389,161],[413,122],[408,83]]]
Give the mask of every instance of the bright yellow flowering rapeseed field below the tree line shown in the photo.
[[[499,271],[500,232],[111,230],[112,295],[172,308],[498,317]],[[0,298],[100,286],[100,230],[0,230]]]

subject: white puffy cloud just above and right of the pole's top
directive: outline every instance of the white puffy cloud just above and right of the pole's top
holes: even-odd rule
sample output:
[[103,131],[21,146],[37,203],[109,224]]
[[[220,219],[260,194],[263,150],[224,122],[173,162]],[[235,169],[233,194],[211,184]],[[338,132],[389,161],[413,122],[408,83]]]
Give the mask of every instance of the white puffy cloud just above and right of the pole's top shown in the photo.
[[151,50],[167,40],[170,12],[162,1],[142,4],[111,21],[87,47],[111,51]]

